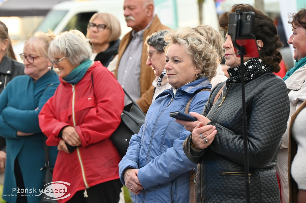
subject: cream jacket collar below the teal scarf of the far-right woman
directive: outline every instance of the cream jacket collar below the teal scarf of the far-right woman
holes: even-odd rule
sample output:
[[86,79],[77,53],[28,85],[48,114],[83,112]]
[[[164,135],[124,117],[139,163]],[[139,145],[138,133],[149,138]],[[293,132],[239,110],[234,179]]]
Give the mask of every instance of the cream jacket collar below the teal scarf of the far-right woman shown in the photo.
[[297,69],[287,80],[285,83],[287,85],[287,89],[297,91],[302,87],[306,79],[306,66],[300,67]]

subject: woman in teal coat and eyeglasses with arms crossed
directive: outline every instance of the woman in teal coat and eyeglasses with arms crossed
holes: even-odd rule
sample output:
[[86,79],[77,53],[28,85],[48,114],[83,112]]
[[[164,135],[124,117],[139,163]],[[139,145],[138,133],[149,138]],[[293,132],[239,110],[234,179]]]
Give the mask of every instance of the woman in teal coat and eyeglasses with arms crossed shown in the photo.
[[[33,188],[42,189],[45,175],[45,169],[41,170],[45,166],[45,135],[39,128],[38,114],[59,84],[47,56],[52,38],[51,34],[36,33],[25,41],[20,55],[25,75],[11,80],[0,94],[0,135],[6,138],[7,146],[3,199],[7,202],[38,203],[42,198],[33,192]],[[57,153],[56,147],[50,147],[50,167]]]

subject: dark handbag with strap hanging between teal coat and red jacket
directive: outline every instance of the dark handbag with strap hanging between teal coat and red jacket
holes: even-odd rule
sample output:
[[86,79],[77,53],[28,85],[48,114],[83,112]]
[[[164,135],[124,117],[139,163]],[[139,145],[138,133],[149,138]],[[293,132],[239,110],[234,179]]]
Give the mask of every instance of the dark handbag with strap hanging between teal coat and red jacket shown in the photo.
[[[40,169],[40,170],[46,169],[46,174],[43,179],[43,191],[45,191],[46,187],[49,186],[46,184],[52,182],[52,173],[53,173],[53,168],[50,168],[49,146],[46,144],[46,141],[47,141],[47,137],[43,135],[43,149],[45,151],[45,167]],[[47,198],[50,198],[50,197],[47,196],[45,193],[43,193],[40,203],[57,203],[58,202],[56,199],[47,199]]]

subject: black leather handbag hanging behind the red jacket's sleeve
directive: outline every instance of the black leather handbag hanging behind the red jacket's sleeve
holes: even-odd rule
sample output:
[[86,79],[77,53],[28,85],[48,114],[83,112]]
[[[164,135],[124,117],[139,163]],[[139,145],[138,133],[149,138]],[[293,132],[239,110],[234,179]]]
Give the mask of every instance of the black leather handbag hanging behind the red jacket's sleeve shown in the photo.
[[113,141],[121,157],[125,155],[132,135],[139,132],[146,117],[146,114],[140,109],[137,103],[133,101],[125,90],[123,91],[132,103],[124,107],[121,114],[121,123],[110,136],[111,141]]

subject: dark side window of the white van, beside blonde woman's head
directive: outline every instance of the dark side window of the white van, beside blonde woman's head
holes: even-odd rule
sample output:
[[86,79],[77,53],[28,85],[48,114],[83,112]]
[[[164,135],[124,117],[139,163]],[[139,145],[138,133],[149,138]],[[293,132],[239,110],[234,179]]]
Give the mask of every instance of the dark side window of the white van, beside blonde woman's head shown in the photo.
[[80,30],[84,35],[87,32],[87,23],[89,22],[91,16],[96,12],[83,12],[78,13],[71,18],[64,31],[76,29]]

